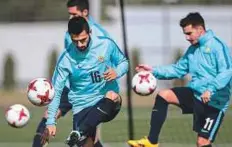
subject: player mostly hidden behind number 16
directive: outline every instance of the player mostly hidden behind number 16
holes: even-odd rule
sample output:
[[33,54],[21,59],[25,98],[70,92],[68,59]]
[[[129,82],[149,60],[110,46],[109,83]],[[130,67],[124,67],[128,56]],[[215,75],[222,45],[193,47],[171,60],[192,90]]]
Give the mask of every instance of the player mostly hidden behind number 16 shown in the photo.
[[[82,16],[88,21],[92,35],[109,37],[108,32],[105,31],[101,25],[97,24],[94,21],[94,19],[89,15],[88,0],[68,0],[67,9],[68,9],[68,13],[70,14],[70,18],[74,16]],[[65,48],[68,48],[68,46],[72,44],[72,40],[68,32],[66,32],[65,34],[64,42],[65,42]],[[59,110],[56,115],[57,119],[59,119],[61,116],[65,116],[67,112],[69,112],[72,109],[72,105],[68,101],[68,92],[69,92],[69,85],[67,83],[62,93]],[[47,110],[45,111],[44,116],[37,127],[36,135],[34,136],[33,139],[33,145],[32,145],[33,147],[42,147],[41,135],[44,133],[46,121],[47,121]],[[46,135],[46,132],[44,135]],[[97,139],[96,139],[95,147],[102,147],[101,143]]]

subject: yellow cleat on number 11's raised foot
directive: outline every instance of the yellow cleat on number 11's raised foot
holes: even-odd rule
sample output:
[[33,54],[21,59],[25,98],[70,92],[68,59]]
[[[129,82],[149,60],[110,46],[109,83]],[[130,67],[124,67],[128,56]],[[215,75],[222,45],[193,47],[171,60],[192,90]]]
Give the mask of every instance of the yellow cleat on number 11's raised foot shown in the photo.
[[127,143],[131,147],[158,147],[158,144],[152,144],[147,137],[144,137],[139,140],[129,140]]

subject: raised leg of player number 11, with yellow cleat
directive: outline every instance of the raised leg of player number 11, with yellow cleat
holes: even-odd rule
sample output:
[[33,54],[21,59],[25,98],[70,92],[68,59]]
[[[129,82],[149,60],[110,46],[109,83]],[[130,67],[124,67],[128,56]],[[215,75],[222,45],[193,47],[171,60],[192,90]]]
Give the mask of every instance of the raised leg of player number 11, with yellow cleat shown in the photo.
[[[189,98],[186,98],[187,95],[189,95]],[[161,90],[156,96],[152,109],[148,137],[140,140],[129,140],[128,144],[133,147],[140,147],[141,145],[144,147],[158,147],[159,134],[167,117],[168,104],[181,107],[183,113],[192,113],[192,99],[192,91],[189,88],[179,87]]]

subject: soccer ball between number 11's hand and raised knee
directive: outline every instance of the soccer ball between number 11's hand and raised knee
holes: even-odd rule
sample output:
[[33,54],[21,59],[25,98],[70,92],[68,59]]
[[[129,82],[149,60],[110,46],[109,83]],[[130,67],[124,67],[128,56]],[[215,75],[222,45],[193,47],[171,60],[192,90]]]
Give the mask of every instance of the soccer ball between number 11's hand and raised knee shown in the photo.
[[148,71],[138,72],[132,79],[132,88],[134,92],[142,96],[152,94],[156,89],[156,85],[156,78]]

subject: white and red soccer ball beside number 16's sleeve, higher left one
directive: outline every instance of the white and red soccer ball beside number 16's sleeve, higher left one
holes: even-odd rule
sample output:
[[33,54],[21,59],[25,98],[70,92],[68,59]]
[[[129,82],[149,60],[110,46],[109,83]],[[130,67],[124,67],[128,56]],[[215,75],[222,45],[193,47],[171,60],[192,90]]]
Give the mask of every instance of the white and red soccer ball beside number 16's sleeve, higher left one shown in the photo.
[[27,97],[36,106],[48,105],[55,95],[52,83],[46,78],[36,78],[27,87]]

